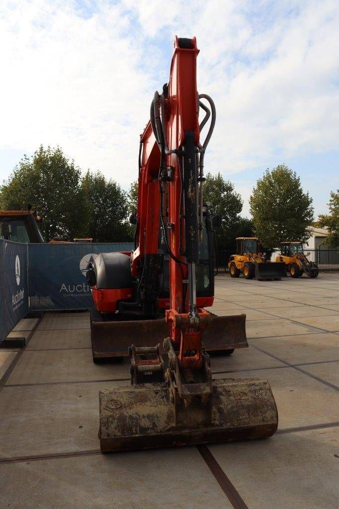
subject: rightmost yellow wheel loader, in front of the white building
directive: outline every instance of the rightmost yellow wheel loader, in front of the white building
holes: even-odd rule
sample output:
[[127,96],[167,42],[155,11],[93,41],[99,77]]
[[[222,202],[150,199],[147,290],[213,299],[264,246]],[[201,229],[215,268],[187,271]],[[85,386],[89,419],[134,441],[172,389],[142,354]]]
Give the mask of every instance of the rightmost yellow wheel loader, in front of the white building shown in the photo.
[[301,277],[304,273],[308,277],[318,277],[318,265],[308,260],[308,255],[304,253],[301,242],[280,242],[280,255],[275,261],[283,262],[291,277]]

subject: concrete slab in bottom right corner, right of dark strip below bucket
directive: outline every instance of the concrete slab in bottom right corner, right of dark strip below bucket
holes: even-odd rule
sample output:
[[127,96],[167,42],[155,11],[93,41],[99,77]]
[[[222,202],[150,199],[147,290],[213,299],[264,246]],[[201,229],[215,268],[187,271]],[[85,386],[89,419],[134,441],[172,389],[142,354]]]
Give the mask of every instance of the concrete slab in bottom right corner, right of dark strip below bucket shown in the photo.
[[339,428],[210,446],[250,509],[337,509]]

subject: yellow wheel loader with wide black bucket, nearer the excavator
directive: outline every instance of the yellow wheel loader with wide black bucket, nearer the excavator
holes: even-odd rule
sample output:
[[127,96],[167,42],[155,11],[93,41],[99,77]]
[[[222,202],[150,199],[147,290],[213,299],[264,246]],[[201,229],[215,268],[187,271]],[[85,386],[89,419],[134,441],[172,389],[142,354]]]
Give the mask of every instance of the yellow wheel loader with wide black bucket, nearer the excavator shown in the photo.
[[237,254],[232,254],[228,264],[231,277],[239,277],[241,272],[245,279],[267,280],[287,276],[283,262],[266,261],[257,237],[237,237],[236,241]]

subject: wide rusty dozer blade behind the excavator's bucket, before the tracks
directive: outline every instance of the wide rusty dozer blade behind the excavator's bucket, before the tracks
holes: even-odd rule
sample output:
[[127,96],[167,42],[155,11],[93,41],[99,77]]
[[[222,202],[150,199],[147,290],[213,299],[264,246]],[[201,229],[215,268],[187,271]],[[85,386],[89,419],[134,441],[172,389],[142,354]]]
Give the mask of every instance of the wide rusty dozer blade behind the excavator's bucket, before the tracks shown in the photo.
[[[212,323],[205,330],[203,345],[208,352],[248,347],[246,339],[246,315],[218,317],[213,314]],[[168,335],[168,324],[160,320],[104,321],[97,312],[91,312],[91,341],[96,358],[127,357],[131,337],[136,347],[152,343],[162,345]],[[162,348],[162,346],[161,346]],[[160,350],[161,353],[162,350]]]

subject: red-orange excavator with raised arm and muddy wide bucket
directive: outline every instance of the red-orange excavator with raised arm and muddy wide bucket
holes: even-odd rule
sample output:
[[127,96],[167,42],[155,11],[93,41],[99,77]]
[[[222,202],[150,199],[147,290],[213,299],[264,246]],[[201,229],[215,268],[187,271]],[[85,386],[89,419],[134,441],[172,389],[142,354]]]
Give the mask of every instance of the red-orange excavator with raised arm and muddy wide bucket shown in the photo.
[[103,452],[260,438],[277,429],[269,382],[212,380],[205,349],[206,338],[222,350],[232,334],[229,317],[205,309],[214,284],[203,168],[216,115],[196,89],[198,53],[195,38],[176,37],[170,80],[151,103],[140,140],[134,250],[98,255],[87,274],[97,310],[115,316],[103,322],[107,335],[130,342],[131,385],[99,394]]

